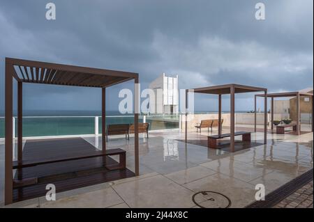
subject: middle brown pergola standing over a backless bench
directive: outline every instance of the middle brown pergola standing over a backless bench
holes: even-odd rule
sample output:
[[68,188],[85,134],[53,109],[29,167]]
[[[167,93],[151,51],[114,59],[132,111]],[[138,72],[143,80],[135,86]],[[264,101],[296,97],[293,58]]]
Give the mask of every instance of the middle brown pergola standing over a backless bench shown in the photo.
[[[226,84],[220,86],[209,86],[204,88],[193,88],[186,90],[186,109],[188,110],[188,93],[205,93],[218,95],[218,136],[221,135],[221,97],[222,95],[230,94],[230,151],[234,152],[234,129],[235,129],[235,118],[234,118],[234,95],[236,93],[254,93],[264,92],[264,144],[267,143],[267,88],[260,88],[254,86],[244,86],[239,84]],[[187,141],[188,137],[188,126],[187,126],[187,115],[186,111],[186,134],[185,138]]]

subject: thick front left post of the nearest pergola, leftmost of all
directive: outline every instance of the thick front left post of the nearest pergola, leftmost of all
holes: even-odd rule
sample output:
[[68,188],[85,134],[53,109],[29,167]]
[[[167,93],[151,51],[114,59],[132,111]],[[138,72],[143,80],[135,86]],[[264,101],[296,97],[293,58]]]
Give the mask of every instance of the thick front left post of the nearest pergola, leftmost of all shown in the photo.
[[6,58],[4,203],[13,203],[13,64]]

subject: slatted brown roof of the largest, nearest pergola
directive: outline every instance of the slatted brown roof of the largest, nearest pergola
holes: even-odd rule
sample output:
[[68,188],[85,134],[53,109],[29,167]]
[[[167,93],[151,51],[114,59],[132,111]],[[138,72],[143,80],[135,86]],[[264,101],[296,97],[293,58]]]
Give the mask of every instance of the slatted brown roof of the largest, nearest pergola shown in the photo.
[[6,59],[10,64],[13,64],[13,77],[17,81],[34,84],[104,88],[138,78],[138,74],[134,72],[103,70],[17,58]]

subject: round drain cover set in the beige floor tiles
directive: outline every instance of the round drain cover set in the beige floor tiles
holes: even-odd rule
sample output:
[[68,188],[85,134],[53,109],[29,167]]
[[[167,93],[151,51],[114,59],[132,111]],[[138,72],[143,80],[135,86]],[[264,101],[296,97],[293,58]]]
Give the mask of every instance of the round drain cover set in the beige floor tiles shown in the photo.
[[228,208],[231,205],[231,200],[223,195],[214,191],[200,191],[192,197],[195,205],[202,208]]

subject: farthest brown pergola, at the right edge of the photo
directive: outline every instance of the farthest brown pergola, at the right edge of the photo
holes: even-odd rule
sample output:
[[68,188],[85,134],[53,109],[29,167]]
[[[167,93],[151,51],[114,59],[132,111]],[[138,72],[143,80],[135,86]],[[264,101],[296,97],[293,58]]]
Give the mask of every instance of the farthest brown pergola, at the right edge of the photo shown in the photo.
[[[254,120],[254,127],[256,132],[256,99],[257,97],[264,97],[264,94],[257,94],[255,95],[255,120]],[[274,98],[277,97],[297,97],[297,135],[300,134],[300,97],[312,97],[312,132],[313,132],[313,93],[303,93],[303,92],[286,92],[286,93],[268,93],[267,97],[271,98],[271,131],[274,130]]]

